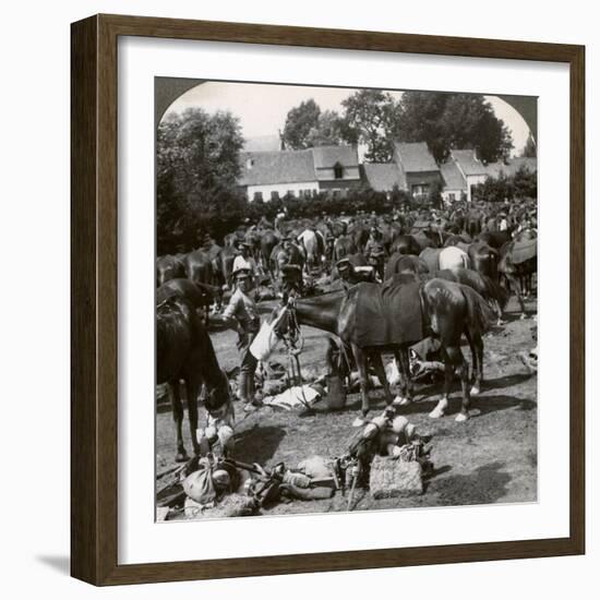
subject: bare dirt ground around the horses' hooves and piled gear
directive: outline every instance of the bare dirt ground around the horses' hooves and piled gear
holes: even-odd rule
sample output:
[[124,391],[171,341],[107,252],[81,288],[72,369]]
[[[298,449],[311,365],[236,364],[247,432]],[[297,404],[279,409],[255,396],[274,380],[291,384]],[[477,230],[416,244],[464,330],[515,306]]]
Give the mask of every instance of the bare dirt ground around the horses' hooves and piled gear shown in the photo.
[[[269,312],[273,303],[264,303]],[[527,304],[529,319],[518,319],[514,299],[507,307],[507,323],[484,339],[484,384],[481,395],[472,398],[471,418],[463,423],[454,421],[460,406],[460,386],[455,383],[447,415],[430,419],[428,413],[440,398],[441,385],[417,387],[416,401],[398,409],[413,422],[421,434],[431,435],[434,464],[433,477],[428,480],[424,493],[408,499],[373,500],[368,492],[357,490],[355,509],[403,508],[416,506],[458,506],[468,504],[532,502],[537,500],[537,377],[531,375],[518,358],[536,341],[531,314],[536,302]],[[325,360],[326,334],[304,327],[302,369],[322,370]],[[219,363],[225,370],[238,364],[236,334],[230,331],[211,334]],[[468,350],[468,348],[464,348]],[[470,358],[470,352],[465,356]],[[285,363],[285,357],[273,360]],[[383,410],[383,392],[370,393],[373,415]],[[324,403],[322,403],[324,404]],[[263,466],[284,461],[296,467],[314,454],[326,457],[346,452],[348,441],[356,433],[351,427],[360,408],[359,394],[348,396],[347,407],[328,412],[325,406],[315,405],[315,412],[287,411],[263,407],[256,412],[237,415],[237,443],[235,458]],[[204,415],[201,416],[201,427]],[[187,416],[185,444],[191,451]],[[168,409],[157,413],[156,452],[159,470],[175,456],[175,428]],[[326,513],[346,511],[347,499],[337,493],[326,501],[278,504],[269,515]],[[263,511],[264,512],[264,511]]]

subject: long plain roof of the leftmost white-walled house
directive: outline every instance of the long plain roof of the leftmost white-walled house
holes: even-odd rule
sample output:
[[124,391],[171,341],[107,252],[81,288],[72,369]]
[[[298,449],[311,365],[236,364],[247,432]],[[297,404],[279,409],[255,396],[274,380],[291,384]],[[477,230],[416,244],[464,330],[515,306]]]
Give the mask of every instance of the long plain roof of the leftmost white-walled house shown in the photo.
[[[252,163],[249,164],[249,160]],[[315,181],[312,151],[242,152],[239,185]]]

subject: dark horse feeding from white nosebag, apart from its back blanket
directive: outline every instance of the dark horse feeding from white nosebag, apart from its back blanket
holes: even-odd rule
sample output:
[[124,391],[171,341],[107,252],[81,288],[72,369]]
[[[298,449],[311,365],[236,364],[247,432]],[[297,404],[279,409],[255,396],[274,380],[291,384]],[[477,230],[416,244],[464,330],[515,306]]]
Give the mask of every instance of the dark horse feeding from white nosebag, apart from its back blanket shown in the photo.
[[[403,276],[397,279],[401,281]],[[406,276],[405,276],[406,277]],[[409,276],[410,280],[413,277]],[[406,280],[406,279],[405,279]],[[388,285],[389,281],[386,283]],[[392,280],[394,285],[394,280]],[[399,284],[403,285],[403,284]],[[362,416],[355,421],[360,425],[364,422],[369,412],[368,397],[368,360],[371,361],[377,379],[381,381],[386,403],[393,401],[389,385],[383,367],[382,352],[394,353],[398,370],[401,374],[400,404],[407,404],[412,399],[412,385],[410,382],[408,349],[422,339],[404,339],[401,343],[387,341],[385,345],[361,346],[357,343],[356,324],[359,310],[359,298],[362,291],[369,291],[363,286],[380,287],[376,284],[361,283],[351,287],[348,292],[332,292],[316,298],[291,300],[279,315],[277,324],[278,335],[289,333],[293,324],[310,325],[338,336],[343,344],[351,349],[356,360],[360,388],[362,396]],[[362,288],[361,288],[362,287]],[[448,394],[453,381],[454,370],[459,370],[463,387],[463,405],[457,421],[468,419],[470,404],[468,363],[460,350],[460,338],[465,334],[469,343],[473,360],[473,395],[479,393],[483,377],[483,339],[482,334],[488,331],[494,320],[494,315],[488,303],[471,288],[454,281],[443,279],[431,279],[418,288],[420,310],[423,323],[429,324],[429,333],[440,341],[441,353],[445,364],[445,384],[442,399],[435,409],[430,413],[432,418],[442,417],[447,408]],[[382,319],[401,314],[401,305],[388,305],[393,314],[382,315]]]

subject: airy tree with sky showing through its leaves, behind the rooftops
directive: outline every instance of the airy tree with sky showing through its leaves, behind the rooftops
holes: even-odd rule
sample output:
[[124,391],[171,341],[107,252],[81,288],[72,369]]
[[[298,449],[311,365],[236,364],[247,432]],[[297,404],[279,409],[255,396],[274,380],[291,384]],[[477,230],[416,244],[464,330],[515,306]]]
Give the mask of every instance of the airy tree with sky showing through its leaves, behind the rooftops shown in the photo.
[[343,100],[341,106],[341,133],[346,142],[365,144],[368,161],[389,161],[398,117],[394,98],[380,89],[361,89]]

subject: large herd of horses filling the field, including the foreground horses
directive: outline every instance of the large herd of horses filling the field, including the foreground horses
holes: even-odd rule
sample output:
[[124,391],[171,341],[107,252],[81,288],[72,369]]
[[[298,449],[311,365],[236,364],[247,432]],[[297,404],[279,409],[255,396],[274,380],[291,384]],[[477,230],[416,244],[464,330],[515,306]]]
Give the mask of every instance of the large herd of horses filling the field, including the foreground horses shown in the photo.
[[[336,277],[335,264],[348,257],[352,264],[365,264],[363,255],[375,225],[371,216],[362,219],[341,216],[336,219],[300,219],[286,223],[286,238],[262,219],[254,227],[243,227],[225,236],[223,245],[205,244],[190,253],[160,256],[157,260],[157,383],[171,387],[176,421],[178,459],[185,457],[181,436],[182,407],[179,394],[181,381],[187,397],[196,398],[201,383],[205,396],[216,405],[229,401],[229,386],[218,365],[211,338],[206,333],[206,314],[211,305],[217,310],[224,292],[231,285],[231,267],[238,253],[236,245],[249,244],[264,281],[275,284],[285,264],[296,264],[307,274],[329,273]],[[361,299],[381,293],[382,287],[412,286],[411,303],[418,307],[424,324],[423,336],[435,337],[445,365],[442,399],[430,413],[444,415],[455,372],[461,384],[463,403],[457,421],[468,419],[470,397],[479,393],[483,377],[483,334],[502,319],[508,295],[514,291],[525,316],[524,296],[537,271],[537,254],[531,252],[515,260],[518,244],[531,240],[526,229],[516,232],[517,221],[505,230],[497,227],[492,208],[454,212],[437,216],[435,224],[422,226],[418,215],[376,218],[379,241],[385,260],[375,265],[379,283],[360,283],[347,290],[333,291],[314,298],[292,298],[277,310],[280,336],[289,335],[292,326],[309,325],[336,336],[353,357],[361,382],[362,412],[356,424],[363,422],[369,411],[369,365],[383,383],[387,404],[406,405],[412,400],[409,369],[409,347],[419,339],[386,339],[375,346],[361,345],[356,337],[357,313]],[[495,223],[495,226],[494,226]],[[535,242],[535,238],[533,238]],[[405,300],[406,301],[406,300]],[[401,314],[401,305],[386,305],[391,314]],[[385,319],[385,314],[382,315]],[[471,351],[473,377],[460,349],[463,336]],[[385,377],[382,353],[395,357],[400,379],[396,400]],[[196,403],[189,403],[190,428],[197,451]],[[193,405],[193,406],[192,406]]]

